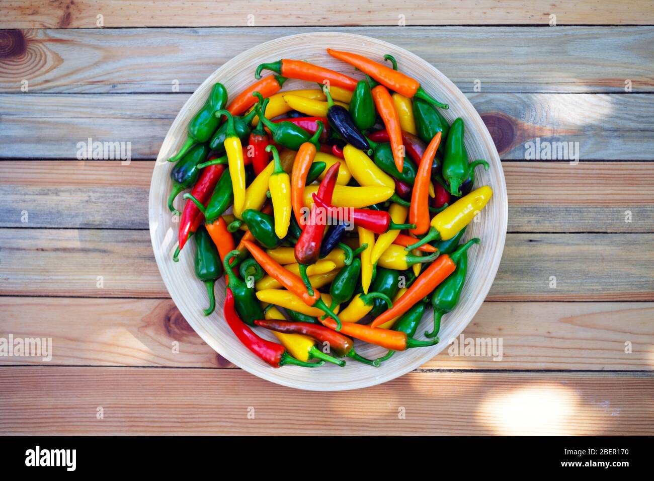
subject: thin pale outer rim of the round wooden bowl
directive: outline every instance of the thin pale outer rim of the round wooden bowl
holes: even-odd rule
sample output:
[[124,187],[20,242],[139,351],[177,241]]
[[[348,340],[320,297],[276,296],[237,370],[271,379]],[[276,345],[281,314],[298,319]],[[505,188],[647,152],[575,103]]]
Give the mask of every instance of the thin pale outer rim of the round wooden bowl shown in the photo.
[[[162,266],[163,266],[163,253],[162,249],[160,249],[160,246],[157,245],[156,240],[155,240],[155,232],[153,228],[153,224],[158,223],[158,219],[156,219],[156,211],[158,208],[160,208],[160,199],[154,199],[154,188],[155,188],[155,169],[161,164],[162,160],[164,164],[168,164],[166,161],[167,156],[163,156],[162,154],[164,152],[168,152],[171,150],[171,147],[175,144],[175,140],[173,139],[173,133],[175,130],[179,127],[179,124],[181,124],[182,121],[185,121],[184,118],[181,117],[181,113],[186,110],[188,105],[192,104],[194,99],[199,95],[199,92],[201,92],[204,88],[207,87],[208,84],[213,84],[216,82],[216,79],[220,77],[221,73],[224,71],[229,70],[230,68],[233,67],[233,65],[239,63],[241,57],[245,57],[248,54],[252,52],[256,52],[256,50],[260,50],[266,46],[273,45],[275,43],[278,43],[280,41],[286,41],[289,39],[302,39],[304,37],[314,37],[315,35],[320,35],[321,40],[324,43],[327,43],[329,41],[328,38],[326,37],[349,37],[352,41],[356,42],[373,42],[376,43],[377,45],[387,45],[391,50],[395,50],[396,52],[400,52],[402,56],[410,57],[412,60],[415,62],[422,63],[424,67],[427,69],[430,69],[432,72],[434,72],[434,77],[438,82],[442,82],[445,86],[453,90],[455,94],[457,94],[460,97],[460,101],[464,104],[466,107],[466,110],[468,111],[469,115],[472,115],[472,118],[475,122],[475,134],[479,134],[482,137],[483,143],[489,149],[490,154],[492,154],[492,161],[489,162],[492,163],[494,166],[498,167],[498,172],[497,174],[500,177],[500,185],[498,186],[493,186],[493,197],[495,198],[495,202],[497,202],[498,199],[501,199],[502,205],[501,210],[500,210],[500,221],[502,223],[501,226],[498,226],[498,234],[500,236],[500,241],[498,241],[498,244],[496,245],[494,249],[494,258],[492,261],[492,264],[490,264],[490,268],[486,270],[487,276],[485,277],[485,282],[481,285],[481,289],[479,290],[479,293],[476,295],[476,299],[472,306],[466,310],[466,312],[460,313],[461,316],[464,317],[465,321],[462,323],[462,329],[460,330],[459,334],[463,332],[464,329],[468,326],[470,321],[472,321],[473,317],[476,315],[476,313],[479,311],[479,308],[481,308],[481,304],[483,304],[486,296],[488,295],[490,291],[490,287],[495,279],[495,276],[497,274],[498,268],[500,266],[500,260],[502,259],[502,255],[504,253],[504,244],[506,241],[506,230],[507,230],[507,225],[508,225],[508,198],[507,198],[507,192],[506,192],[506,179],[504,177],[504,171],[502,170],[502,163],[500,160],[500,156],[497,152],[497,149],[494,145],[494,142],[492,141],[492,137],[490,136],[488,128],[485,126],[483,120],[481,119],[481,116],[477,112],[477,110],[473,107],[472,103],[470,100],[461,92],[461,90],[456,87],[454,82],[449,80],[441,71],[438,70],[438,68],[434,67],[431,63],[426,62],[426,60],[422,59],[420,56],[417,54],[413,54],[413,52],[410,52],[409,50],[406,50],[405,48],[402,48],[400,46],[388,43],[386,41],[376,39],[374,37],[368,37],[366,35],[360,35],[357,33],[349,33],[349,32],[336,32],[336,31],[320,31],[320,32],[306,32],[306,33],[297,33],[294,35],[286,35],[283,37],[277,37],[275,39],[271,39],[269,41],[266,41],[264,43],[261,43],[259,45],[253,46],[252,48],[249,48],[248,50],[245,50],[244,52],[241,52],[240,54],[237,54],[228,62],[225,62],[223,65],[218,67],[211,75],[207,77],[199,86],[196,88],[194,93],[187,99],[187,101],[184,103],[184,105],[181,107],[179,113],[177,113],[177,116],[175,116],[175,120],[173,120],[173,123],[171,124],[168,132],[166,133],[163,141],[162,141],[162,146],[160,147],[159,154],[157,156],[157,160],[155,162],[155,167],[152,172],[152,180],[150,181],[150,190],[148,192],[148,225],[149,225],[149,230],[150,230],[150,240],[152,241],[152,249],[154,251],[154,256],[156,259],[157,263],[157,268],[159,269],[160,275],[162,276],[163,283],[165,284],[165,287],[170,294],[173,302],[175,302],[175,306],[180,310],[182,315],[184,313],[182,312],[182,309],[179,307],[181,306],[181,302],[178,302],[177,297],[179,294],[176,293],[174,289],[174,285],[172,283],[172,279],[169,279],[167,276],[164,275],[162,271]],[[500,191],[500,194],[502,195],[497,195],[498,193],[498,188]],[[220,281],[219,281],[220,282]],[[218,308],[218,305],[216,304],[216,310]],[[262,370],[258,370],[255,368],[253,365],[247,365],[247,366],[241,366],[239,363],[235,362],[232,355],[230,353],[226,353],[226,349],[222,349],[222,346],[220,343],[216,340],[214,336],[212,336],[209,332],[207,332],[201,325],[197,325],[196,321],[194,321],[193,317],[186,317],[184,316],[184,319],[188,322],[188,324],[192,327],[192,329],[195,330],[195,332],[200,336],[200,338],[206,342],[209,346],[211,346],[212,349],[216,351],[216,353],[220,354],[222,357],[230,361],[233,365],[237,366],[238,368],[241,368],[250,374],[253,374],[254,376],[257,376],[258,378],[262,378],[264,380],[279,384],[279,385],[284,385],[286,387],[292,387],[294,389],[301,389],[301,390],[307,390],[307,391],[346,391],[349,389],[362,389],[364,387],[370,387],[373,385],[385,383],[391,380],[394,380],[396,378],[399,378],[401,376],[404,376],[405,374],[416,370],[419,368],[421,365],[424,365],[427,361],[432,359],[433,357],[436,357],[445,347],[447,347],[447,343],[441,342],[439,344],[436,344],[436,346],[432,346],[430,348],[425,348],[424,350],[426,352],[424,353],[419,353],[413,357],[410,361],[408,361],[402,368],[399,368],[394,371],[387,372],[385,374],[380,374],[379,376],[371,376],[368,378],[368,380],[365,380],[364,382],[359,383],[358,385],[350,385],[351,383],[346,383],[344,385],[328,385],[326,387],[322,387],[322,385],[310,385],[310,386],[298,386],[297,384],[294,384],[290,381],[287,381],[284,378],[279,378],[279,376],[276,376],[275,374],[275,368],[271,368],[269,366],[266,366],[269,368],[269,370],[266,370],[265,372],[262,372]],[[438,350],[434,350],[434,348]],[[433,351],[433,352],[432,352]]]

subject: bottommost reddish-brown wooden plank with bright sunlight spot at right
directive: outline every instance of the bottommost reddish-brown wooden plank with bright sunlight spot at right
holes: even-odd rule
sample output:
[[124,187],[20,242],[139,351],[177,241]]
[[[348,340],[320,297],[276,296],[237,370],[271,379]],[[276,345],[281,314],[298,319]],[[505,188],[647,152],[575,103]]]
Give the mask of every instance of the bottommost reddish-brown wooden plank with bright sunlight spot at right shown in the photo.
[[0,382],[8,435],[654,434],[651,373],[413,372],[336,393],[232,369],[7,367]]

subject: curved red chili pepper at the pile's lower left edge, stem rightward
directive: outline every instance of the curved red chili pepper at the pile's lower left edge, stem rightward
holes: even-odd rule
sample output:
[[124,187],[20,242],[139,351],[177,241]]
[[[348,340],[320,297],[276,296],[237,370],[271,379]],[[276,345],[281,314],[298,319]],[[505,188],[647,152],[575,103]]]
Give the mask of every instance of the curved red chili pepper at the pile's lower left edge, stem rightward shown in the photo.
[[234,294],[232,294],[232,289],[229,287],[225,296],[223,312],[227,324],[233,333],[236,334],[236,337],[239,338],[239,341],[243,343],[243,346],[250,349],[250,351],[258,355],[258,357],[266,361],[269,365],[281,367],[284,364],[294,364],[296,366],[318,367],[324,364],[324,361],[320,361],[319,363],[305,363],[299,359],[295,359],[286,352],[286,349],[281,344],[267,341],[254,334],[254,331],[241,321],[241,318],[236,313],[234,309]]

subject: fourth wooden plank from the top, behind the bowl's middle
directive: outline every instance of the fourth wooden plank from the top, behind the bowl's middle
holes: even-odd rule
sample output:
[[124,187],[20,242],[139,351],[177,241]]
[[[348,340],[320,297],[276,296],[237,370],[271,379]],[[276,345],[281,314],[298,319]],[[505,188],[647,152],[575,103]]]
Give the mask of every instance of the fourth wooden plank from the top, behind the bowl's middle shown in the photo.
[[[146,229],[153,167],[152,161],[0,162],[0,227]],[[502,167],[509,232],[653,231],[653,162]]]

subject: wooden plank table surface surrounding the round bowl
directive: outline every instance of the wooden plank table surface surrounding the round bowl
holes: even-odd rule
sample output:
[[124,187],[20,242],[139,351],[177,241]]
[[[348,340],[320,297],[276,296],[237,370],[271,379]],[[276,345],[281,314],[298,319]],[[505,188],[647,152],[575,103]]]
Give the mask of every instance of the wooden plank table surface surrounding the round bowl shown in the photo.
[[[0,338],[53,344],[47,363],[0,357],[1,433],[654,434],[651,2],[398,5],[0,0]],[[501,337],[502,362],[445,351],[362,391],[295,391],[171,302],[147,199],[173,118],[233,55],[326,30],[411,50],[487,122],[509,232],[464,334]],[[88,137],[132,162],[77,160]],[[537,137],[581,161],[526,160]]]

